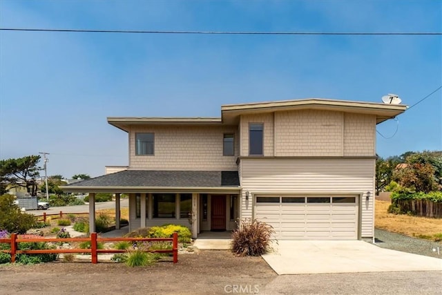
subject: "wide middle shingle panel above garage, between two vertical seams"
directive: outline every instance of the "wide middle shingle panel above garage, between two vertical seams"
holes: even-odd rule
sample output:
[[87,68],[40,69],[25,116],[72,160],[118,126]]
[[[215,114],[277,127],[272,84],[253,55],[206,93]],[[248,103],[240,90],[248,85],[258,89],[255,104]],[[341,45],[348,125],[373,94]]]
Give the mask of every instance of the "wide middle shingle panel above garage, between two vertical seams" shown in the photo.
[[275,113],[278,156],[342,156],[343,113],[319,110]]

